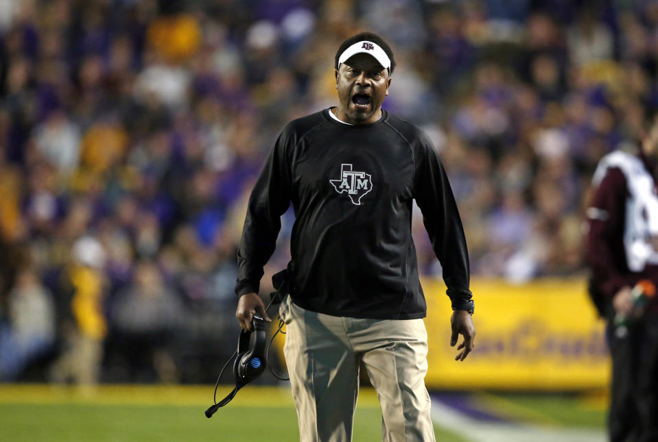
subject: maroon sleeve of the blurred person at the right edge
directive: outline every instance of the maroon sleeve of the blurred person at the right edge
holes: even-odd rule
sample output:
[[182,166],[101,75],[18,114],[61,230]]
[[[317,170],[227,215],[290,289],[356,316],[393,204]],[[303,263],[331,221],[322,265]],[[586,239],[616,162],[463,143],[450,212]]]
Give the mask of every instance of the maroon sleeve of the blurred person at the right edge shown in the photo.
[[616,167],[608,169],[587,209],[587,260],[592,278],[608,297],[628,285],[624,250],[626,194],[624,173]]

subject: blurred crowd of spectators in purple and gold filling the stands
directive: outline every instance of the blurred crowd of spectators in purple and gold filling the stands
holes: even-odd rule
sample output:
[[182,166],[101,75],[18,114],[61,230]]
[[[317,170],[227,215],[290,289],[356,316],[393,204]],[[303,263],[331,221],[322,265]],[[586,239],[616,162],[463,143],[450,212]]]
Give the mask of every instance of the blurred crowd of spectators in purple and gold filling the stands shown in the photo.
[[[337,103],[362,30],[393,47],[384,107],[434,140],[473,275],[582,272],[596,162],[658,107],[657,1],[0,0],[0,380],[212,380],[252,183]],[[414,238],[440,275],[417,210]]]

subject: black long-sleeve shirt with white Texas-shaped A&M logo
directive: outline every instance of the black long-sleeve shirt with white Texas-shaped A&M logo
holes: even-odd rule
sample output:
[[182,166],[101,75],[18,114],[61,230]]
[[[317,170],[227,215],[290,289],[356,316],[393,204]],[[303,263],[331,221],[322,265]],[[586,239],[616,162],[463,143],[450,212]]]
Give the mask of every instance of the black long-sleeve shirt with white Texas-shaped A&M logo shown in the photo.
[[462,223],[429,138],[386,111],[366,125],[345,125],[328,112],[279,134],[249,200],[235,293],[258,292],[292,201],[295,304],[335,316],[425,317],[411,235],[416,199],[453,305],[471,299]]

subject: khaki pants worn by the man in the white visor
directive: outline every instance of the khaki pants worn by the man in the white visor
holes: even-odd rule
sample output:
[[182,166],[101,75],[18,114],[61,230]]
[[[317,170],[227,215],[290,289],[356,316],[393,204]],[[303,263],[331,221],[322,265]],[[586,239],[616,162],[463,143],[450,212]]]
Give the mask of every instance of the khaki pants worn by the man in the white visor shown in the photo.
[[322,315],[296,306],[290,296],[280,312],[301,442],[351,441],[361,361],[379,398],[382,440],[434,441],[422,319]]

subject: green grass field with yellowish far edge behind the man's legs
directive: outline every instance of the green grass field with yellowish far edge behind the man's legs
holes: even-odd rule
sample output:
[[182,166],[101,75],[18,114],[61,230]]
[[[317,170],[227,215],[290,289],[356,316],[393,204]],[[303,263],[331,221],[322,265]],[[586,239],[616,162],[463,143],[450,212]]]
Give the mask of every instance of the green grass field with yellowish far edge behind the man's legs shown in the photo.
[[[228,393],[220,386],[218,397]],[[169,442],[258,440],[294,442],[297,422],[289,389],[248,386],[212,419],[211,386],[100,386],[78,391],[45,385],[0,384],[2,442]],[[604,407],[570,397],[477,395],[482,407],[511,420],[564,427],[602,426]],[[354,421],[355,442],[381,440],[375,393],[362,389]],[[467,442],[435,427],[442,442]]]

